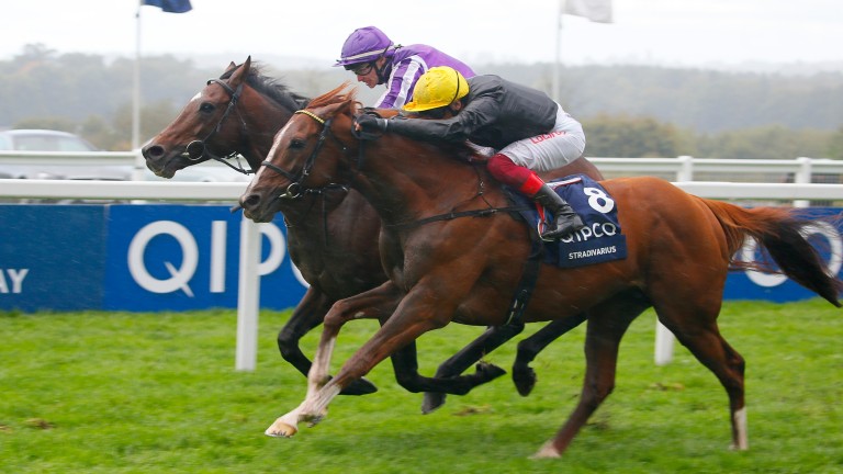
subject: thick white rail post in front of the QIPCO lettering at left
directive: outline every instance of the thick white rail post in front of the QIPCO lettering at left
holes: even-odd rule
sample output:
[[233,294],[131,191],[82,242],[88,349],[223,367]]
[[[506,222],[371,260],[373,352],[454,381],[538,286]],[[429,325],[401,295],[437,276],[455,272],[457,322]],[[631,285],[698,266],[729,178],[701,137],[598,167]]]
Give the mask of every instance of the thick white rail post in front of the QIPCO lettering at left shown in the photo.
[[235,368],[254,371],[258,360],[258,311],[260,307],[260,246],[259,224],[243,217],[240,221],[240,269],[237,287],[237,349]]

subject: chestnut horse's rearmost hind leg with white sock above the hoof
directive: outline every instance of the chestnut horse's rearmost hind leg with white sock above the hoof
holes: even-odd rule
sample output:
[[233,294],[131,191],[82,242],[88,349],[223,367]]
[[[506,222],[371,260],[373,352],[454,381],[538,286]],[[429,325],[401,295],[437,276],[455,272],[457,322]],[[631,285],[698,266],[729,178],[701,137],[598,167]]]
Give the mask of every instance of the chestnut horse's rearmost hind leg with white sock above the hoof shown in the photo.
[[[749,449],[746,436],[746,407],[744,405],[744,360],[720,335],[717,327],[717,316],[720,312],[720,300],[712,300],[697,311],[687,308],[675,309],[684,317],[672,317],[673,308],[656,308],[659,319],[673,331],[688,348],[694,357],[710,370],[729,395],[729,410],[732,426],[732,444],[735,450]],[[711,307],[706,307],[711,306]],[[692,315],[692,316],[688,316]]]

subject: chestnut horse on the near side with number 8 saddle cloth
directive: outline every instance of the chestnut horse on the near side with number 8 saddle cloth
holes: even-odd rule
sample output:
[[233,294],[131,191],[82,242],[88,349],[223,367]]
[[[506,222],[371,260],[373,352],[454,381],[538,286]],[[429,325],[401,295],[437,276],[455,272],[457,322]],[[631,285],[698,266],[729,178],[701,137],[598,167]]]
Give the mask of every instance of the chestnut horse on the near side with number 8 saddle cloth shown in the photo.
[[[315,99],[279,132],[266,167],[240,198],[246,215],[262,222],[292,185],[306,189],[348,183],[383,219],[381,239],[390,282],[338,302],[325,318],[305,400],[278,418],[267,435],[289,437],[300,421],[317,422],[351,381],[424,332],[450,321],[502,325],[530,252],[528,227],[507,212],[502,189],[480,167],[445,147],[384,134],[358,140],[352,124],[360,104],[344,87]],[[322,146],[317,145],[321,143]],[[827,274],[822,259],[793,210],[742,208],[690,195],[656,178],[602,182],[618,210],[628,256],[622,260],[561,269],[542,264],[526,321],[565,320],[588,312],[586,375],[578,405],[537,453],[559,456],[615,385],[618,347],[630,323],[653,307],[659,319],[708,368],[729,397],[732,444],[748,448],[744,360],[722,338],[717,317],[730,267],[745,238],[756,239],[782,271],[840,306],[843,282]],[[609,201],[604,201],[604,204]],[[476,212],[475,212],[476,211]],[[434,218],[446,215],[462,218]],[[331,350],[341,325],[383,316],[378,302],[402,300],[380,330],[333,379]],[[371,311],[370,307],[374,307]]]

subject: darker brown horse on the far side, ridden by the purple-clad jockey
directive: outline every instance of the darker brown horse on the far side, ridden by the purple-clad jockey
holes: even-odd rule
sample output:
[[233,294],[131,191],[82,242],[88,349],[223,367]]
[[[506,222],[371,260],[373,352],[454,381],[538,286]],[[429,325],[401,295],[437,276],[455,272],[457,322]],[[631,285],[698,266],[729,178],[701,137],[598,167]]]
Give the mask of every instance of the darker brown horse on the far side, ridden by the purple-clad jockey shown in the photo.
[[[254,172],[269,153],[278,129],[307,101],[276,79],[263,76],[260,68],[251,64],[251,58],[239,66],[232,63],[218,79],[209,80],[176,120],[144,146],[146,165],[164,178],[172,178],[178,170],[209,159],[222,161],[244,173]],[[246,158],[249,169],[231,162],[238,154]],[[570,173],[600,177],[585,158],[555,170],[550,177]],[[278,335],[278,348],[286,361],[307,374],[311,361],[299,346],[301,338],[322,324],[336,301],[387,280],[378,250],[381,221],[360,193],[341,185],[311,189],[296,200],[280,201],[277,211],[284,215],[290,256],[310,283]],[[391,312],[391,308],[386,311]],[[581,319],[584,320],[584,316]],[[535,383],[528,363],[548,342],[575,324],[552,323],[519,345],[519,362],[514,371],[516,376],[525,380],[525,387]],[[490,329],[440,365],[437,379],[418,374],[415,348],[411,346],[393,358],[396,379],[411,392],[439,393],[426,394],[423,410],[428,413],[445,402],[441,393],[464,394],[503,374],[503,370],[484,363],[472,376],[454,377],[521,328]],[[363,394],[374,390],[368,382],[360,381],[344,393]],[[525,394],[528,391],[521,390]]]

